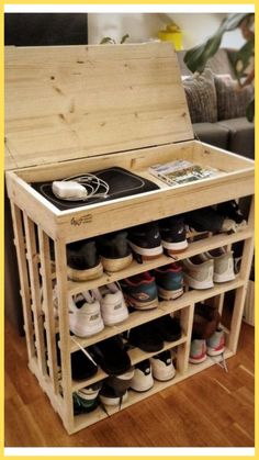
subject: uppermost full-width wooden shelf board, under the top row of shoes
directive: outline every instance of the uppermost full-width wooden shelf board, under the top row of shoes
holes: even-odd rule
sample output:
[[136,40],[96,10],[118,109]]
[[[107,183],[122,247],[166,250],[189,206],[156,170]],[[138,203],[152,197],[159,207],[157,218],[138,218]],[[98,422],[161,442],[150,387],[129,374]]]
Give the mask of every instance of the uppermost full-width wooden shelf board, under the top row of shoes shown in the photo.
[[252,229],[250,229],[247,226],[243,231],[233,233],[230,235],[219,234],[211,236],[209,238],[202,238],[196,242],[190,243],[188,248],[183,253],[174,255],[173,258],[164,254],[157,259],[145,260],[143,263],[138,263],[136,260],[133,260],[132,263],[125,269],[116,271],[114,273],[104,272],[102,277],[95,280],[81,282],[68,281],[68,292],[72,295],[78,294],[89,289],[95,289],[103,284],[120,281],[124,278],[133,277],[134,274],[153,270],[157,267],[166,266],[178,260],[183,260],[188,257],[193,257],[198,254],[212,250],[221,246],[227,246],[229,244],[237,243],[250,237],[252,237]]

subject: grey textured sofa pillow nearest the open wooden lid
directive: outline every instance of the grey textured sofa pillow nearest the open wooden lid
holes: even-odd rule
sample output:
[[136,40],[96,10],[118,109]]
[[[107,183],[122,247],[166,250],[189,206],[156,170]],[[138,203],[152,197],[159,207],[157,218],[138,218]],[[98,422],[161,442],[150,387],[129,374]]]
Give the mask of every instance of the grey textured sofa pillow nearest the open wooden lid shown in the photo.
[[192,123],[217,121],[216,89],[211,69],[182,81]]

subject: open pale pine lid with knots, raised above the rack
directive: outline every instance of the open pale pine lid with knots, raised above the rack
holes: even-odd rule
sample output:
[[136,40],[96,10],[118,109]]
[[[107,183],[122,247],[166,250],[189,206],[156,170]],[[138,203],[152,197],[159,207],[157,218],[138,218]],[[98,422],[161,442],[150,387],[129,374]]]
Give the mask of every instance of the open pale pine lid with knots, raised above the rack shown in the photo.
[[191,138],[170,43],[5,48],[5,169]]

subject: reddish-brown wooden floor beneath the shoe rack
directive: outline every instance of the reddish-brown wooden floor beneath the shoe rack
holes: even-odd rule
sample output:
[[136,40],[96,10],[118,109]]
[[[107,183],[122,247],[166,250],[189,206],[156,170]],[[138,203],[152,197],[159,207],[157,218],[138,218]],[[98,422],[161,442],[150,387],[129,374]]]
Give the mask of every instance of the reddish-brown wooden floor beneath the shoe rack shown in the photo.
[[5,325],[5,447],[254,447],[254,328],[244,324],[228,373],[195,374],[68,436]]

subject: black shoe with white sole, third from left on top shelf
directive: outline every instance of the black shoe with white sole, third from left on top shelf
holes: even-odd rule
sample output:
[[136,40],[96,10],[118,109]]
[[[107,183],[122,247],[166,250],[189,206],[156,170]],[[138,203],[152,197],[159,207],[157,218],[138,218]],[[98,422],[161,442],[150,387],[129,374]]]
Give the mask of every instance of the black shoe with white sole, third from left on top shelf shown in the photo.
[[154,259],[162,254],[161,236],[156,222],[128,228],[132,250],[143,259]]

